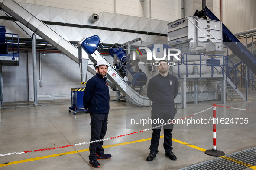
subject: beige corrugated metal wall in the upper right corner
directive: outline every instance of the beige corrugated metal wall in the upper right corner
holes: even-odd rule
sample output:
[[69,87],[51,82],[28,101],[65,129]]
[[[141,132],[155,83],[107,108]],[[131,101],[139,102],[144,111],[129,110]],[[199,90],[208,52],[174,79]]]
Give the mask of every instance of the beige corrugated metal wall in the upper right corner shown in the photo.
[[234,34],[256,28],[256,0],[225,0],[225,25]]

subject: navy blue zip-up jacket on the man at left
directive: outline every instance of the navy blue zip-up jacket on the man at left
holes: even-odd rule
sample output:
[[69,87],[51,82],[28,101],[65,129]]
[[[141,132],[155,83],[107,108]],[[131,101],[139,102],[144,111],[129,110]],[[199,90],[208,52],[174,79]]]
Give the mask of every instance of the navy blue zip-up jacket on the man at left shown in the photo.
[[107,77],[102,78],[96,73],[86,83],[84,90],[84,108],[88,108],[89,113],[105,113],[109,112],[109,90],[107,85]]

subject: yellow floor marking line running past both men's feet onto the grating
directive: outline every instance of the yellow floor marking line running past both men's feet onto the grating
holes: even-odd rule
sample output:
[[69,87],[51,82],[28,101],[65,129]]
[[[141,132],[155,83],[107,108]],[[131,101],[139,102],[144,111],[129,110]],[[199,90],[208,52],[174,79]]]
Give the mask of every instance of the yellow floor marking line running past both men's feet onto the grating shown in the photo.
[[[163,135],[160,136],[160,138],[163,138],[163,137],[164,137]],[[140,139],[140,140],[130,141],[130,142],[123,142],[123,143],[118,143],[118,144],[113,144],[113,145],[106,145],[106,146],[103,146],[103,148],[110,148],[110,147],[114,147],[114,146],[127,145],[127,144],[132,144],[132,143],[137,143],[137,142],[144,142],[144,141],[149,141],[149,140],[151,140],[151,138]],[[178,142],[178,143],[180,143],[182,145],[189,146],[189,147],[197,149],[199,151],[203,151],[203,152],[206,151],[206,149],[204,149],[204,148],[200,148],[198,146],[191,145],[189,143],[180,141],[178,139],[173,139],[172,138],[172,141]],[[61,154],[52,154],[52,155],[48,155],[48,156],[35,157],[35,158],[24,159],[24,160],[20,160],[20,161],[8,162],[8,163],[5,163],[5,164],[0,164],[0,167],[4,167],[4,166],[8,166],[8,165],[13,165],[13,164],[20,164],[20,163],[29,162],[29,161],[36,161],[36,160],[46,159],[46,158],[50,158],[50,157],[58,157],[58,156],[68,155],[68,154],[76,154],[76,153],[85,152],[85,151],[89,151],[89,149],[82,149],[82,150],[78,150],[78,151],[65,152],[65,153],[61,153]],[[246,164],[244,162],[241,162],[241,161],[238,161],[238,160],[235,160],[235,159],[232,159],[230,157],[222,156],[221,158],[227,159],[229,161],[232,161],[232,162],[235,162],[237,164],[241,164],[241,165],[249,167],[249,168],[251,168],[253,170],[256,170],[255,166],[250,165],[250,164]]]

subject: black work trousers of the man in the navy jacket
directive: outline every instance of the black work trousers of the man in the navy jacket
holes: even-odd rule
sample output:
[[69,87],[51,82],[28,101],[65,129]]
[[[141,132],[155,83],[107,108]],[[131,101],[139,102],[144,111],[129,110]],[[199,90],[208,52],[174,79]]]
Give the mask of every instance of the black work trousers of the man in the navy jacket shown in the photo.
[[[107,116],[108,114],[90,113],[91,116],[91,141],[104,139],[107,132]],[[90,143],[89,159],[97,160],[97,154],[103,155],[103,141]]]

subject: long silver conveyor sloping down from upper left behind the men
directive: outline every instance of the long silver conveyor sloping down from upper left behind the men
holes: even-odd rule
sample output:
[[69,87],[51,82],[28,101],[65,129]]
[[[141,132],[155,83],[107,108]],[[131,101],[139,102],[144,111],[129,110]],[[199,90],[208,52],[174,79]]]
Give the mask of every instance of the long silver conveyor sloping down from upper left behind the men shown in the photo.
[[[55,31],[33,16],[31,13],[26,11],[23,7],[19,6],[18,3],[13,0],[0,0],[0,8],[2,8],[10,16],[13,16],[17,21],[21,22],[30,30],[34,31],[37,35],[48,41],[50,44],[54,45],[58,50],[61,50],[65,55],[78,63],[78,48],[73,44],[62,38]],[[95,51],[91,54],[94,60],[105,60],[104,57]],[[111,64],[110,64],[111,66]],[[95,70],[88,67],[88,71],[94,74]],[[113,77],[113,73],[116,74]],[[133,89],[126,84],[126,82],[117,74],[115,69],[111,66],[108,70],[108,79],[115,85],[118,90],[123,94],[126,94],[126,100],[128,99],[131,103],[139,106],[149,106],[149,98],[144,97],[133,91]]]

